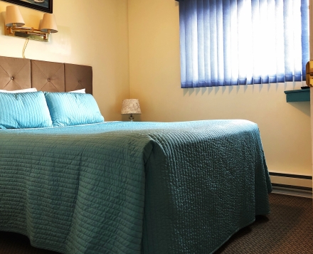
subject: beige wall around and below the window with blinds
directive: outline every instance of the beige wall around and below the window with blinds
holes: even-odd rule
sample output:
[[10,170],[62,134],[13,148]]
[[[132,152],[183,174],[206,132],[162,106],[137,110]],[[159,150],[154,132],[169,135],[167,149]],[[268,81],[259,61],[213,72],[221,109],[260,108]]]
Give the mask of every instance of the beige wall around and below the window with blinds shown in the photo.
[[284,93],[302,84],[181,89],[177,2],[129,0],[128,15],[130,96],[143,121],[251,120],[270,171],[312,175],[309,102]]

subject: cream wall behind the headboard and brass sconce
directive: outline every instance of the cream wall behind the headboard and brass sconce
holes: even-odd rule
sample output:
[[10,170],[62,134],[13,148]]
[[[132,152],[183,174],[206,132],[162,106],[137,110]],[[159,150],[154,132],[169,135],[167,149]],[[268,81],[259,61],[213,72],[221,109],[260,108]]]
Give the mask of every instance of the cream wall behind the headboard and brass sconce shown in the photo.
[[[25,40],[4,36],[0,1],[0,55],[22,57]],[[19,6],[26,26],[38,28],[43,12]],[[105,120],[121,120],[129,97],[127,0],[54,0],[58,33],[49,43],[29,41],[26,58],[91,65],[94,96]]]

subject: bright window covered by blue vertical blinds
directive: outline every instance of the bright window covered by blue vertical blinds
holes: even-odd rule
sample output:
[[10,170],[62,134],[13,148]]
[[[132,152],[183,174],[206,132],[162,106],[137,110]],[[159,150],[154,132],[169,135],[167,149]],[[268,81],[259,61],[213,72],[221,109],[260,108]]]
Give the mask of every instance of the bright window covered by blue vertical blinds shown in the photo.
[[305,80],[308,0],[177,0],[181,88]]

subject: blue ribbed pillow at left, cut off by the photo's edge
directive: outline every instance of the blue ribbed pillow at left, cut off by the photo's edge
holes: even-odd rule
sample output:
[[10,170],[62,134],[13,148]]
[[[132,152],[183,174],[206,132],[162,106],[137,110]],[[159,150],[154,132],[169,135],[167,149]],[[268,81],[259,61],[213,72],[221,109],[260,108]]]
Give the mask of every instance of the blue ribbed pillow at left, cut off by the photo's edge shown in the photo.
[[53,127],[43,92],[0,92],[0,129]]

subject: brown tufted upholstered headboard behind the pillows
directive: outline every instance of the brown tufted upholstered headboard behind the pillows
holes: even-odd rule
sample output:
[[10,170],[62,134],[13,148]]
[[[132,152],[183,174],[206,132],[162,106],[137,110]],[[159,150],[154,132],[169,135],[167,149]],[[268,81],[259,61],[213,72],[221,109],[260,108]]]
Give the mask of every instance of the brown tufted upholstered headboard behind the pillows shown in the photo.
[[85,88],[92,94],[92,67],[0,56],[0,90],[26,88],[47,92]]

